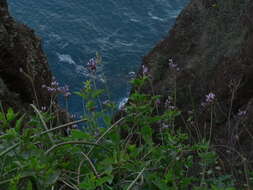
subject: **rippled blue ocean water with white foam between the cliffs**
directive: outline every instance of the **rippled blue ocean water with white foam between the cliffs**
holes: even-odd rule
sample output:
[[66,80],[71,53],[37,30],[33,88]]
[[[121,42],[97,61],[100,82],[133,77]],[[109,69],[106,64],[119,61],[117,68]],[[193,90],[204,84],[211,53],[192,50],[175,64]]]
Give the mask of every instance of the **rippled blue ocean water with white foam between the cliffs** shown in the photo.
[[[188,0],[8,0],[11,14],[43,39],[50,68],[72,92],[92,79],[119,105],[142,57],[167,35]],[[103,63],[96,76],[85,68],[96,52]],[[63,101],[61,101],[63,104]],[[69,99],[82,113],[79,97]]]

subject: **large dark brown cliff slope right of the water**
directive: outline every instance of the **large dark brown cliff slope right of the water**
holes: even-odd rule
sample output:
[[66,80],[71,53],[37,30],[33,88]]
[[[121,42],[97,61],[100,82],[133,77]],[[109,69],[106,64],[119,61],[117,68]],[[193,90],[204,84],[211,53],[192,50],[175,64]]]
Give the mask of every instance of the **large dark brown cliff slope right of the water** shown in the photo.
[[[170,58],[179,70],[170,67]],[[194,137],[200,135],[195,127],[202,137],[211,131],[213,146],[229,152],[226,158],[235,168],[245,163],[238,152],[246,161],[253,159],[253,1],[192,0],[143,64],[152,87],[147,84],[142,91],[163,100],[176,91],[185,119],[187,111],[197,113],[192,124],[184,125]],[[211,108],[201,106],[210,92],[216,95],[212,118]]]

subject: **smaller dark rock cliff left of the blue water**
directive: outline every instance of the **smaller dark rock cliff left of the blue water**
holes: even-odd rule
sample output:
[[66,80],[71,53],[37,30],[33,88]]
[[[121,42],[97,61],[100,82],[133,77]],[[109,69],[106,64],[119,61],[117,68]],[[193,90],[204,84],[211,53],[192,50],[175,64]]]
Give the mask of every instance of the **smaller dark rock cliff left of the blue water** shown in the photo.
[[29,104],[48,106],[51,73],[41,41],[34,31],[16,22],[0,0],[0,100],[18,110]]

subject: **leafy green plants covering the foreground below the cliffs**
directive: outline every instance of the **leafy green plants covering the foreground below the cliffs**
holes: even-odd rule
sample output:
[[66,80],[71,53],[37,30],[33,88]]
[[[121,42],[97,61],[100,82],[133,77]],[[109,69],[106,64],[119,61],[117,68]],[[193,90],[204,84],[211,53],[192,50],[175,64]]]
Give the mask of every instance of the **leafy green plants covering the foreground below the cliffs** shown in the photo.
[[[134,88],[146,79],[135,79]],[[193,143],[176,126],[180,110],[168,106],[158,114],[159,96],[133,92],[124,116],[112,122],[113,104],[97,101],[102,90],[87,81],[77,94],[84,99],[85,114],[61,126],[49,128],[54,116],[34,105],[33,116],[11,108],[0,113],[0,189],[235,189],[209,140]],[[82,130],[71,129],[68,136],[59,132],[79,122],[84,122]]]

